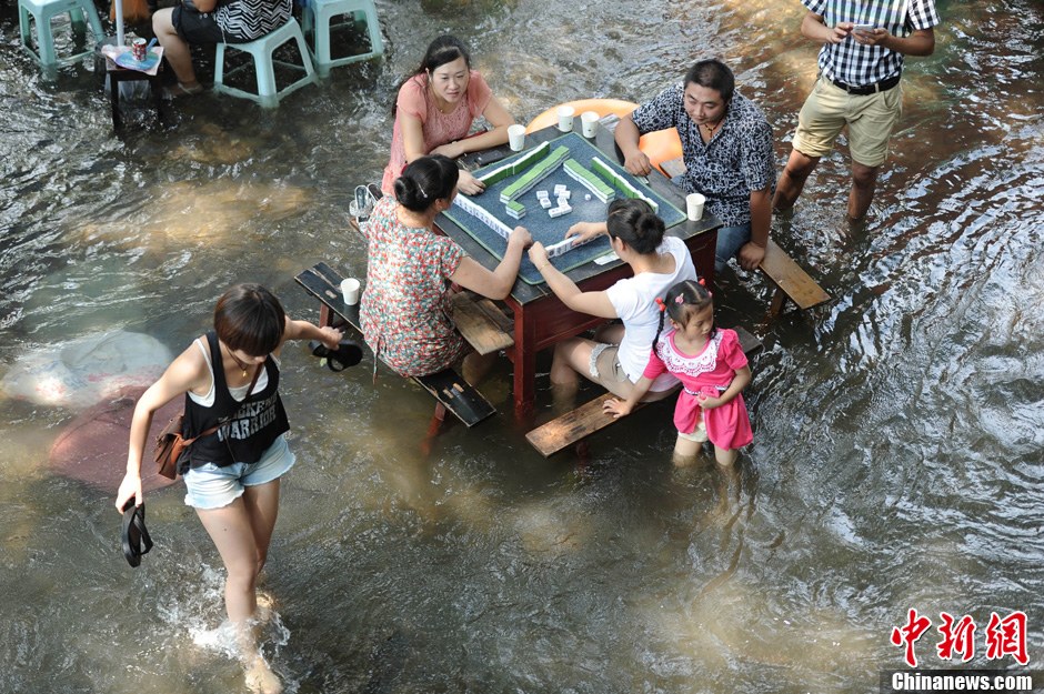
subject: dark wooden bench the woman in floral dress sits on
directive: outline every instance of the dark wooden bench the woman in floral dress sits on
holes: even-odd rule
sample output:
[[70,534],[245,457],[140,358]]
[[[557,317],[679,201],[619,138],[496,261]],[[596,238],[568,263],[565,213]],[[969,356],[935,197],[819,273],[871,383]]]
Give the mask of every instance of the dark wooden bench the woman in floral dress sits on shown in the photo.
[[[322,262],[302,271],[294,278],[298,284],[321,302],[320,325],[339,328],[347,323],[361,333],[359,305],[348,306],[344,304],[341,296],[342,279],[335,270]],[[334,316],[340,320],[334,320]],[[482,396],[482,393],[464,381],[453,369],[443,369],[438,373],[414,376],[413,381],[431,393],[441,406],[452,412],[456,419],[468,426],[474,426],[496,412],[496,409]]]

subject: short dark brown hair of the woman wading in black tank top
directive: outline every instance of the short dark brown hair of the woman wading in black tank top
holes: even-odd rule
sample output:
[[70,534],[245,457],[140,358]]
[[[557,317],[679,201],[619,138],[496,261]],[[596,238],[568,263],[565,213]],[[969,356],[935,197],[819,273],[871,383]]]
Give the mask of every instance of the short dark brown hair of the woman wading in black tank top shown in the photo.
[[214,306],[214,331],[230,350],[251,356],[272,353],[282,343],[287,313],[275,294],[260,284],[237,284]]

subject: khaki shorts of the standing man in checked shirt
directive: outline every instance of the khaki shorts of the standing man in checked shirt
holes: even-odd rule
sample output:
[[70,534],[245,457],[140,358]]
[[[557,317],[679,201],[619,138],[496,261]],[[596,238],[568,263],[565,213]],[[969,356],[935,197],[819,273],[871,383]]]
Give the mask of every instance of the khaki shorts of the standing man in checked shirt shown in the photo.
[[889,157],[889,138],[903,114],[903,84],[856,97],[820,76],[797,115],[794,149],[806,157],[825,157],[849,127],[852,161],[880,167]]

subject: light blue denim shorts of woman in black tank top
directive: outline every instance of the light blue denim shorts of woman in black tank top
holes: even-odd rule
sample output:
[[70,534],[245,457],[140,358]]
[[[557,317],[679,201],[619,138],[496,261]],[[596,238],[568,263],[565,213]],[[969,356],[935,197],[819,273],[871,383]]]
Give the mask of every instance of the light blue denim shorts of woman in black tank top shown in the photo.
[[193,509],[221,509],[242,496],[243,489],[278,480],[293,467],[297,456],[280,436],[257,463],[218,466],[204,463],[184,475],[185,505]]

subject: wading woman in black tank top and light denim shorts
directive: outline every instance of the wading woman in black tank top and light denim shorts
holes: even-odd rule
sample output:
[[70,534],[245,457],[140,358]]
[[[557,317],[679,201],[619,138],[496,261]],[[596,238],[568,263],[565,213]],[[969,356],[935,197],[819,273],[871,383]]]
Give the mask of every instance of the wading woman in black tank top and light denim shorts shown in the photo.
[[337,349],[341,332],[290,320],[279,299],[259,284],[228,290],[214,309],[214,330],[201,341],[205,350],[193,341],[138,401],[127,475],[116,499],[121,513],[131,499],[141,505],[141,459],[152,416],[183,396],[184,436],[203,434],[180,471],[189,492],[185,503],[195,507],[228,572],[225,610],[237,626],[248,685],[267,693],[282,685],[258,651],[251,620],[279,511],[279,475],[293,464],[283,437],[289,423],[275,362],[287,340],[320,340]]

